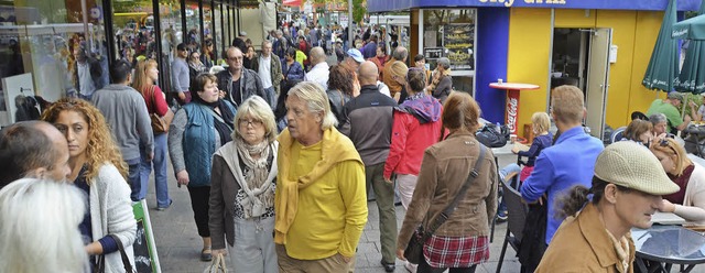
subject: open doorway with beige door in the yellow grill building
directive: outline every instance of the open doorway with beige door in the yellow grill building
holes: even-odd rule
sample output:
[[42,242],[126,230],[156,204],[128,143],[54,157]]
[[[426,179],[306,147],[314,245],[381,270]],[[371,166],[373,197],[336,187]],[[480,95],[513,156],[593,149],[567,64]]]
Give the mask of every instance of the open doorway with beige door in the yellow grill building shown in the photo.
[[611,29],[554,29],[551,89],[574,85],[585,96],[585,125],[601,139],[609,75]]

